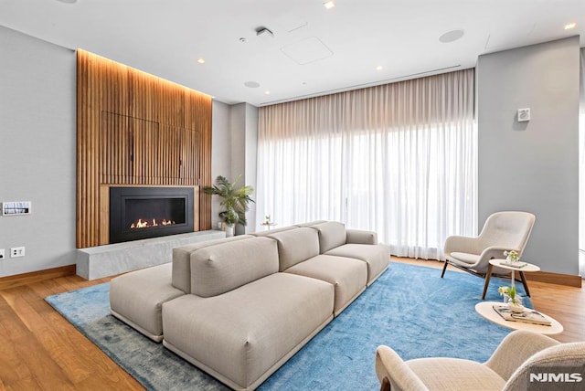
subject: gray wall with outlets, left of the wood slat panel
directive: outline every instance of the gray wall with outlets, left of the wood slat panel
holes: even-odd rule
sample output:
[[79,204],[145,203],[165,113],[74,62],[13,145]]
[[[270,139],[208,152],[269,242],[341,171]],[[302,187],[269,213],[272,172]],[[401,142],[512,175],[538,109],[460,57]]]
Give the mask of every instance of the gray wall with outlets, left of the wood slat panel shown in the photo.
[[[75,53],[0,26],[0,277],[75,263]],[[26,248],[9,258],[9,248]]]

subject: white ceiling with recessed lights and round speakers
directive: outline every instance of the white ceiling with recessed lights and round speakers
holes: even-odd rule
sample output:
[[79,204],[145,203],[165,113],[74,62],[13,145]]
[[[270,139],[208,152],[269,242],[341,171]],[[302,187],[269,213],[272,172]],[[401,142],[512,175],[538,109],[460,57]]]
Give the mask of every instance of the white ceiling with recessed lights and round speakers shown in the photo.
[[[324,0],[71,1],[0,0],[0,25],[229,104],[471,68],[484,53],[562,37],[585,47],[585,0],[335,0],[331,10]],[[261,26],[273,37],[257,36]],[[455,29],[462,38],[439,41]]]

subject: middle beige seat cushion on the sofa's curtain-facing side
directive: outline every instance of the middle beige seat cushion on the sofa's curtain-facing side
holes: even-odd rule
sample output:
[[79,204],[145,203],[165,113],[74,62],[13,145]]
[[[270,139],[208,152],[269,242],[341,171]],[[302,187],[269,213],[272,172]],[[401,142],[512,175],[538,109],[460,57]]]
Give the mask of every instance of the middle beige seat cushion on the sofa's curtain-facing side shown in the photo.
[[333,284],[335,316],[366,289],[367,265],[359,259],[317,255],[286,269],[285,272]]

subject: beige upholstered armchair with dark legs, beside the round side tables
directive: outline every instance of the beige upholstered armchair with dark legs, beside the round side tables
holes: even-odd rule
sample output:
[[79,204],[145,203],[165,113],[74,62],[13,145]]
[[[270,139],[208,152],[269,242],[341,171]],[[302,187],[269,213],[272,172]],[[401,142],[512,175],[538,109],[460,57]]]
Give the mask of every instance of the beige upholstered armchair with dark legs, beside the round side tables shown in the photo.
[[[447,238],[443,247],[445,263],[441,278],[445,275],[445,270],[450,264],[475,276],[487,278],[482,295],[482,299],[484,299],[490,277],[487,275],[488,269],[496,275],[509,273],[509,270],[502,268],[490,268],[490,259],[502,259],[504,251],[512,249],[516,250],[518,255],[522,257],[535,219],[533,214],[527,212],[497,212],[487,217],[478,237],[452,236]],[[527,290],[524,274],[519,274]]]

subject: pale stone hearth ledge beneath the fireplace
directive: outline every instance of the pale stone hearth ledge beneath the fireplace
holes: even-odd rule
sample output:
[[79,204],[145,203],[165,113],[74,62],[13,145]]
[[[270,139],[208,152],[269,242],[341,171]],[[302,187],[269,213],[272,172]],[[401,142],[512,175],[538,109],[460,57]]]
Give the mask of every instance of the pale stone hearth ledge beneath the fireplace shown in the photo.
[[160,238],[77,250],[77,274],[86,280],[115,276],[173,260],[173,248],[205,240],[225,238],[224,231],[199,231]]

